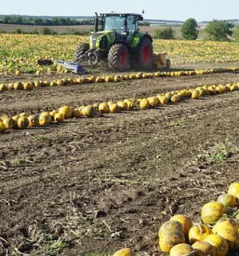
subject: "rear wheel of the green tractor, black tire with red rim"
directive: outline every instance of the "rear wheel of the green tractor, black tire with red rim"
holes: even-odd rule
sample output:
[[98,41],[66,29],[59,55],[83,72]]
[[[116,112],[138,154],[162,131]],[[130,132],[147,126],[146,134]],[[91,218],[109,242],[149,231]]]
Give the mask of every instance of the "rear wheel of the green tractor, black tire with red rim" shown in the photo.
[[153,45],[150,38],[143,38],[139,45],[137,64],[139,69],[148,70],[153,64]]

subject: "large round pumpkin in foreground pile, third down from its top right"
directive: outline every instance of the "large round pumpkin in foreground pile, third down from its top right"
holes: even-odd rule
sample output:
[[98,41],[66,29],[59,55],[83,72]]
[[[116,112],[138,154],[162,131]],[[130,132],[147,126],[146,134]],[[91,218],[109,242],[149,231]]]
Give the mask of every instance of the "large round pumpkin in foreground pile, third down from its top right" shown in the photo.
[[202,221],[206,224],[214,224],[227,212],[224,205],[219,202],[209,202],[201,210]]

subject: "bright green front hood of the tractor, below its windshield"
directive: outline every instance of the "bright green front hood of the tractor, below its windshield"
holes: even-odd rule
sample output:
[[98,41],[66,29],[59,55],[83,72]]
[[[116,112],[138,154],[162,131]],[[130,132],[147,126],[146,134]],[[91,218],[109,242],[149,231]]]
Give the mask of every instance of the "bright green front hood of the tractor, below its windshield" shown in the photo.
[[90,48],[108,50],[115,41],[115,31],[99,31],[90,35]]

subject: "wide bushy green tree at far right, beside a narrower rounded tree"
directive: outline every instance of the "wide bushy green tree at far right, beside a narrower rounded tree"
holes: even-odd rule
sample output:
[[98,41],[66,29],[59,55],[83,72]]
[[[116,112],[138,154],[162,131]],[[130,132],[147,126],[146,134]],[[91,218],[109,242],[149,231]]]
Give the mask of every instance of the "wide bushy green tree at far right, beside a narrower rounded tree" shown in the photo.
[[229,41],[234,25],[225,20],[212,20],[206,26],[207,39],[213,41]]

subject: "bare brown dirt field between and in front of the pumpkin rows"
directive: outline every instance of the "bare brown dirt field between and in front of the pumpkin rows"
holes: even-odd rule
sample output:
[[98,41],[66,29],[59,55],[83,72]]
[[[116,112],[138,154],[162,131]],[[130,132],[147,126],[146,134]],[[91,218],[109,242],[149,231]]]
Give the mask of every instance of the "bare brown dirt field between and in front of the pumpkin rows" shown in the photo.
[[[5,91],[0,114],[233,82],[239,74]],[[177,213],[200,222],[238,179],[238,110],[234,91],[1,134],[0,255],[164,255],[159,226]]]

